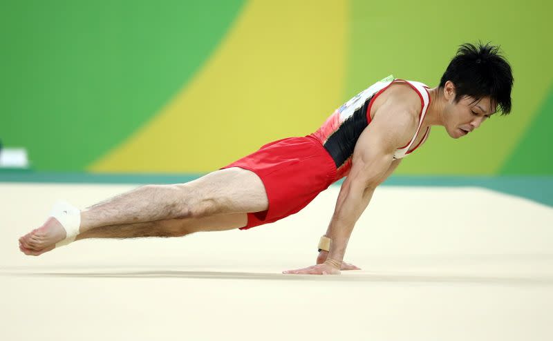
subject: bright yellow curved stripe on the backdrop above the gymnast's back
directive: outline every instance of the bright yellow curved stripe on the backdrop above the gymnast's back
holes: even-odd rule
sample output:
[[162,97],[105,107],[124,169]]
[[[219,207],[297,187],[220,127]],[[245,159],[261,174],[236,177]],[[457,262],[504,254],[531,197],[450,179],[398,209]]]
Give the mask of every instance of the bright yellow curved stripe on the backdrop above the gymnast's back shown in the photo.
[[250,1],[191,83],[88,169],[212,171],[315,130],[342,100],[346,14],[346,1]]

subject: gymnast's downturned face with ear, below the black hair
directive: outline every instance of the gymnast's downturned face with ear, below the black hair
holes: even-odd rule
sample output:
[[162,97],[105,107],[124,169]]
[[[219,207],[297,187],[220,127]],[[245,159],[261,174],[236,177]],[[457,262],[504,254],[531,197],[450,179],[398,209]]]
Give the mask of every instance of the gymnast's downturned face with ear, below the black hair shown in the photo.
[[496,112],[490,97],[461,97],[455,102],[455,86],[448,81],[444,87],[447,104],[444,107],[445,128],[449,136],[458,139],[468,135]]

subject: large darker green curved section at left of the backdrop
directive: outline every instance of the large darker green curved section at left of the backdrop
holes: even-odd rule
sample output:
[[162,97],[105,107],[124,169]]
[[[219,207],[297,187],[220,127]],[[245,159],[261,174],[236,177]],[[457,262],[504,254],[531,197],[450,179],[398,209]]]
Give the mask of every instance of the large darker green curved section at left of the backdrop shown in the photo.
[[194,76],[242,2],[3,1],[0,139],[38,170],[86,169]]

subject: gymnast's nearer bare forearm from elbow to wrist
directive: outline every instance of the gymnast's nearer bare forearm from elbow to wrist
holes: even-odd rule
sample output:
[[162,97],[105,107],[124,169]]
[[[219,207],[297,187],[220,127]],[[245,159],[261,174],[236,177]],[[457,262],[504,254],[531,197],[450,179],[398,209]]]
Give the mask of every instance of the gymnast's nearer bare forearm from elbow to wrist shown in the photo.
[[[348,181],[346,179],[346,181]],[[373,187],[359,186],[358,184],[344,184],[340,191],[335,213],[326,230],[326,237],[330,238],[330,250],[326,262],[339,267],[350,235],[355,223],[368,206],[374,193]]]

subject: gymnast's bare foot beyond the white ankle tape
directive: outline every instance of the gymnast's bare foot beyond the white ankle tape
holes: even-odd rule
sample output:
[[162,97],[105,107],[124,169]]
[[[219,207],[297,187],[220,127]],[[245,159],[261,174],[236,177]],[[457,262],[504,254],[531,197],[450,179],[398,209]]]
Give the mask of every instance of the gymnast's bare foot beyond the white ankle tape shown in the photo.
[[44,225],[19,238],[19,250],[26,255],[41,255],[52,251],[56,243],[66,237],[65,228],[57,219],[49,217]]

